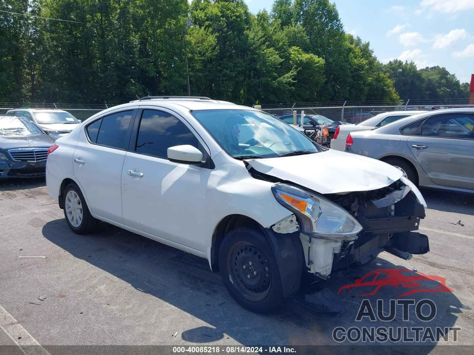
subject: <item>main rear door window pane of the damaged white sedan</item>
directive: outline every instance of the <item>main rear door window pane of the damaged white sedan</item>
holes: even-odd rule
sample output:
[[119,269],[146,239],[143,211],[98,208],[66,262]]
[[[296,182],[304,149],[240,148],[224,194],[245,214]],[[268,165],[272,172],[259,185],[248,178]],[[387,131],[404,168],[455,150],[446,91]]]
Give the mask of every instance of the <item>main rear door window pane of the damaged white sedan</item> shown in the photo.
[[132,114],[133,111],[124,111],[102,117],[97,144],[123,149]]

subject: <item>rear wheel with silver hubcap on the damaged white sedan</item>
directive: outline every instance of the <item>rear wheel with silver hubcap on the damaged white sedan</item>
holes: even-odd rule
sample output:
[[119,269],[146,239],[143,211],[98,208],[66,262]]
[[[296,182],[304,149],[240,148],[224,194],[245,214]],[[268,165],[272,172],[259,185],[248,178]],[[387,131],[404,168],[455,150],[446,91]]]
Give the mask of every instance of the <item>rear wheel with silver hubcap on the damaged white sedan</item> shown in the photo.
[[92,217],[79,186],[69,184],[63,196],[64,217],[69,228],[77,234],[97,231],[100,221]]

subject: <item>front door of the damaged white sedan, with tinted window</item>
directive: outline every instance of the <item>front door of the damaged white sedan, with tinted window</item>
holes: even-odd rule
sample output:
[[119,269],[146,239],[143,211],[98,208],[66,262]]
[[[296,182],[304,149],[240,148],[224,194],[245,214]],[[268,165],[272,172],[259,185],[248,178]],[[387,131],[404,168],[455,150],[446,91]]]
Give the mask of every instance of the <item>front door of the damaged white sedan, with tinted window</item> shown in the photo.
[[[167,149],[205,143],[173,111],[143,108],[137,114],[122,169],[125,224],[184,246],[205,251],[196,230],[206,223],[206,190],[211,169],[168,160]],[[216,203],[218,203],[216,201]]]

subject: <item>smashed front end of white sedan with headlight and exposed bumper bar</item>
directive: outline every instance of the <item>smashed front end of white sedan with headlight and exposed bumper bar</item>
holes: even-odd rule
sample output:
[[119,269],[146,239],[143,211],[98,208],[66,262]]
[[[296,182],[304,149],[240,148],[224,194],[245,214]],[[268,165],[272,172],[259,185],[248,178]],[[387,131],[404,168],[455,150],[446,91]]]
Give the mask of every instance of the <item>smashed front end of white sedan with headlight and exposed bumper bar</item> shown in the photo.
[[410,259],[429,251],[419,234],[425,202],[410,180],[383,188],[319,195],[300,186],[277,183],[275,198],[293,212],[275,223],[277,233],[300,230],[308,271],[322,279],[373,260],[382,251]]

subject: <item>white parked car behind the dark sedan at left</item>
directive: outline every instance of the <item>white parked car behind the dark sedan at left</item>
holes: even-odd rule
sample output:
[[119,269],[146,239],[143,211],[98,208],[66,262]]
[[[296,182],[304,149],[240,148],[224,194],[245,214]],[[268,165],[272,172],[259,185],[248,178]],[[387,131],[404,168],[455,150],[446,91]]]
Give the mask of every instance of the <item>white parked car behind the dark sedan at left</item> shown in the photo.
[[23,116],[38,125],[43,131],[58,138],[60,134],[68,134],[81,121],[67,111],[45,108],[16,108],[7,111],[7,115]]

